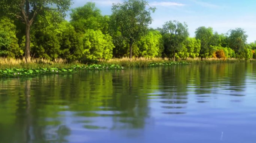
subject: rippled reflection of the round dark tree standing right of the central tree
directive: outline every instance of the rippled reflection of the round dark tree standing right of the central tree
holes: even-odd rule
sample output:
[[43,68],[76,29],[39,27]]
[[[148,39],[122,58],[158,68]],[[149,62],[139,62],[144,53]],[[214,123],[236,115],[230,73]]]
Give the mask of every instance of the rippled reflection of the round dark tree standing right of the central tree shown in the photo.
[[164,114],[185,114],[182,110],[188,103],[188,68],[187,66],[163,67],[161,73],[162,108],[166,109]]

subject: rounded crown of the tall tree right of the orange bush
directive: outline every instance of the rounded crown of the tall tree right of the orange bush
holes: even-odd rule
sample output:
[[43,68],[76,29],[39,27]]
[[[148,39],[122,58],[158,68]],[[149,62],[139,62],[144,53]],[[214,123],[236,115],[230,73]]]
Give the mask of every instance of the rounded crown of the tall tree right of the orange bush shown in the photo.
[[236,28],[228,31],[228,47],[233,49],[237,54],[238,51],[244,51],[248,35],[242,28]]

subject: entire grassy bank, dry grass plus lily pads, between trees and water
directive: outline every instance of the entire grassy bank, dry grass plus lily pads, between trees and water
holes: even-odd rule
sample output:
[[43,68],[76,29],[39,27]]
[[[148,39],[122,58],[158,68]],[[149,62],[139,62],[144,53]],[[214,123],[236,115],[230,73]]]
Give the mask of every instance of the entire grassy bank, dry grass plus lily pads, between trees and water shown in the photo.
[[54,61],[45,59],[31,59],[25,63],[25,59],[0,58],[0,76],[26,76],[34,74],[48,73],[70,73],[77,70],[100,70],[100,69],[124,69],[126,67],[152,67],[170,66],[186,64],[213,64],[213,63],[235,63],[235,62],[256,62],[256,60],[241,59],[217,59],[188,58],[186,60],[172,61],[168,58],[113,58],[110,60],[99,60],[97,64],[82,64],[79,61],[68,62],[65,59],[55,59]]

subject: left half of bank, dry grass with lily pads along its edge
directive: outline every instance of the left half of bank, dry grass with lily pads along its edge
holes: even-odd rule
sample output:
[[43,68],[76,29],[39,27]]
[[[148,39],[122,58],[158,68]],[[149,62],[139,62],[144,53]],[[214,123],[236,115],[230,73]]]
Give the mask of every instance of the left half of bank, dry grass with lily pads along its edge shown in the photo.
[[45,59],[31,59],[25,63],[25,59],[0,58],[0,76],[27,76],[35,74],[61,74],[71,73],[83,69],[124,69],[124,67],[115,64],[81,64],[78,61],[68,63],[64,59],[54,61]]

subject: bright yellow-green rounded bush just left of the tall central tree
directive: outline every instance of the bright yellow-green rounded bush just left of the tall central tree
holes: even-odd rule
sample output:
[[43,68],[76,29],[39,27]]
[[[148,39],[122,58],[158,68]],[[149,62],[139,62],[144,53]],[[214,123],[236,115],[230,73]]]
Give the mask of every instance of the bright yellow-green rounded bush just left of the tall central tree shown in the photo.
[[112,58],[112,37],[104,35],[100,30],[86,30],[83,36],[83,54],[86,59],[96,60],[99,58]]

